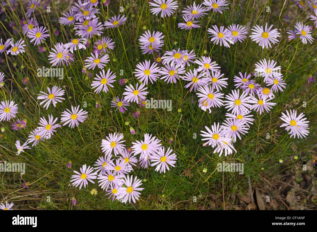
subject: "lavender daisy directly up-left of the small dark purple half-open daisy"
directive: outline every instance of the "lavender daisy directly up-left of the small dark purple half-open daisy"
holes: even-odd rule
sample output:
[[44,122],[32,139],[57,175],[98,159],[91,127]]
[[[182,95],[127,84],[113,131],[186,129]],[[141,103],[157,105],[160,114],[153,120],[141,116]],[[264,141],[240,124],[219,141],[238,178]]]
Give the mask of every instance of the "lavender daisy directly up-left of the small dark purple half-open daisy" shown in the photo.
[[[92,53],[91,53],[92,54]],[[108,86],[114,87],[111,83],[115,82],[116,75],[115,73],[112,73],[110,71],[110,68],[108,69],[107,73],[105,73],[105,70],[103,69],[102,72],[100,71],[100,76],[96,74],[96,77],[94,78],[95,81],[91,84],[92,89],[97,88],[94,90],[94,92],[100,93],[100,91],[108,92]]]

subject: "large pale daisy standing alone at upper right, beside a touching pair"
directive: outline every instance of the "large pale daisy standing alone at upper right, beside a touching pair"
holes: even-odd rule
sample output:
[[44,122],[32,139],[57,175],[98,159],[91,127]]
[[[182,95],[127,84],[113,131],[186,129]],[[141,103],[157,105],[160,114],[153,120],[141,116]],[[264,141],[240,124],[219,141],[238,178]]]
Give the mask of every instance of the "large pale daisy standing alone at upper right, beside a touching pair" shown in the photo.
[[271,43],[278,43],[276,38],[280,37],[281,34],[278,32],[277,28],[271,30],[272,27],[273,25],[268,28],[268,23],[265,24],[265,29],[263,29],[263,26],[260,27],[255,25],[253,28],[251,28],[253,32],[251,32],[249,37],[252,39],[252,41],[259,43],[259,46],[262,46],[262,49],[264,47],[268,48],[268,46],[272,47]]

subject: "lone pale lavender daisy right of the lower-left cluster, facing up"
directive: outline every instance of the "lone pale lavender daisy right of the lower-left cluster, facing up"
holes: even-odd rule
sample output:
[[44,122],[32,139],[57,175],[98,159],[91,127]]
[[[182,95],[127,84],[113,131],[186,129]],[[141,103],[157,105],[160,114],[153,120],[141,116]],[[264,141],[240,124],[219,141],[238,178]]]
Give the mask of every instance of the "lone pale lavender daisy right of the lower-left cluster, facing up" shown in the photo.
[[68,125],[68,127],[74,128],[75,126],[78,127],[78,122],[84,122],[86,118],[88,117],[88,112],[86,110],[79,110],[79,105],[77,107],[72,106],[72,111],[66,109],[62,112],[61,115],[61,122],[65,122],[63,126]]

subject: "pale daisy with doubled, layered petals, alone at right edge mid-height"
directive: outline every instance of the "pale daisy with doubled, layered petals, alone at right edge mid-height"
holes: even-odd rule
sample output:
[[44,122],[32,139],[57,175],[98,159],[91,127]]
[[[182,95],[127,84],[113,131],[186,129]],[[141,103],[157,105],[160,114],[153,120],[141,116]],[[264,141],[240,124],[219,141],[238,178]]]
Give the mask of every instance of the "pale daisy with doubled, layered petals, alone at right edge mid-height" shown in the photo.
[[305,115],[301,113],[299,116],[297,116],[297,111],[289,110],[289,112],[286,110],[286,114],[282,112],[282,116],[280,117],[281,120],[283,120],[286,123],[283,123],[280,127],[286,127],[285,130],[290,132],[288,133],[291,135],[290,137],[296,137],[297,138],[303,138],[308,135],[309,133],[309,128],[308,128],[308,123],[309,121],[305,121],[307,118],[303,118]]

